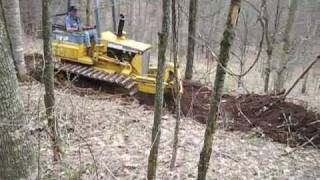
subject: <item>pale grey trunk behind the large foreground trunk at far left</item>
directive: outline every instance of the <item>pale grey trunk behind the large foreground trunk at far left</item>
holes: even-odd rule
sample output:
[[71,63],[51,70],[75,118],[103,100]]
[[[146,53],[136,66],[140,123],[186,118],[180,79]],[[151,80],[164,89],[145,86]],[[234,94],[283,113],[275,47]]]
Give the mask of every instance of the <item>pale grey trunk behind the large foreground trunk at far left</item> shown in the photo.
[[27,78],[27,70],[24,62],[23,33],[19,0],[1,0],[0,3],[2,13],[5,14],[5,24],[17,75],[20,80],[24,81]]

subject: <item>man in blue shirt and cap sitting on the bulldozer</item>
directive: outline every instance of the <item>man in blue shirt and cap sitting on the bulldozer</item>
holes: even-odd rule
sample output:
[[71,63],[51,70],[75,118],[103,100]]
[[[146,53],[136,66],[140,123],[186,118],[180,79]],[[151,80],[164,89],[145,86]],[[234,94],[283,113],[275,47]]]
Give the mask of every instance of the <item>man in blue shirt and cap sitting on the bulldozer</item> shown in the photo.
[[94,26],[81,27],[81,20],[77,15],[78,9],[75,6],[70,6],[68,9],[68,15],[65,17],[65,26],[68,32],[83,32],[84,41],[87,47],[88,56],[93,55],[91,39],[98,43],[97,31]]

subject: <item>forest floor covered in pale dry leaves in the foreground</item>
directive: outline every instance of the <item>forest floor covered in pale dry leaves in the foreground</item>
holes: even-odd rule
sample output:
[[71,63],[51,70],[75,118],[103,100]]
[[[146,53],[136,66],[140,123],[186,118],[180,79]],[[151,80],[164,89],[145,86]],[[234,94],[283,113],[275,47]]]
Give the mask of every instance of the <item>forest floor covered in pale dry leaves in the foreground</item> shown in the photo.
[[[84,91],[91,92],[90,89]],[[45,127],[44,88],[21,85],[27,117],[34,130]],[[56,89],[56,117],[64,149],[52,162],[50,139],[35,131],[35,151],[42,179],[145,179],[153,111],[133,98],[72,87]],[[195,179],[205,125],[184,118],[176,168],[169,170],[175,119],[163,117],[158,179]],[[306,146],[290,148],[257,131],[228,131],[219,121],[208,179],[317,179],[320,151]],[[40,135],[38,137],[38,134]]]

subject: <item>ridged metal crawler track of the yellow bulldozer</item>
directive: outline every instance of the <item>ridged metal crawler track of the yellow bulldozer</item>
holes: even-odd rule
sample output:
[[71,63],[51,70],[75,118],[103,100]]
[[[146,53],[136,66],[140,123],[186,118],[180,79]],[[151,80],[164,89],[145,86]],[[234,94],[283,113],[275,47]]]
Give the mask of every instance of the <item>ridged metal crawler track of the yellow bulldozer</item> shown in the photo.
[[128,75],[110,74],[99,71],[92,66],[85,66],[68,62],[55,63],[55,69],[66,73],[81,75],[90,79],[95,79],[107,83],[117,84],[129,91],[132,96],[139,91],[138,84]]

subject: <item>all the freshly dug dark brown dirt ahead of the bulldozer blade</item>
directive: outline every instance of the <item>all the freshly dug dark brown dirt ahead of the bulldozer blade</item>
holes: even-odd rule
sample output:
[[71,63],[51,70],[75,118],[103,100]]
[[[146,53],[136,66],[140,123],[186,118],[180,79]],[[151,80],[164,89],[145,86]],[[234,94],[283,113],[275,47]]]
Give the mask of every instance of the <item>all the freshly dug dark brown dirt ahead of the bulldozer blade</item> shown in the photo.
[[[197,83],[186,84],[184,90],[184,115],[206,123],[212,91]],[[229,131],[247,132],[259,128],[274,141],[290,146],[301,145],[310,139],[309,145],[320,145],[320,114],[303,106],[258,94],[223,95],[222,101],[220,116]]]

